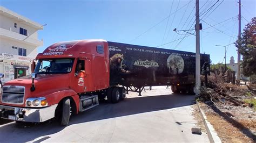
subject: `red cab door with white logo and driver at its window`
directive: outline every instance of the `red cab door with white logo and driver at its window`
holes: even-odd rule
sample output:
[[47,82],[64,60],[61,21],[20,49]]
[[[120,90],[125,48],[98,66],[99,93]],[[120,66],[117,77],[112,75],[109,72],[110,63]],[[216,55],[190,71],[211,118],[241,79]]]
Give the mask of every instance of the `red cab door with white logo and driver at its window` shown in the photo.
[[77,93],[86,92],[86,83],[85,83],[85,61],[77,60],[76,70],[75,70],[75,87]]

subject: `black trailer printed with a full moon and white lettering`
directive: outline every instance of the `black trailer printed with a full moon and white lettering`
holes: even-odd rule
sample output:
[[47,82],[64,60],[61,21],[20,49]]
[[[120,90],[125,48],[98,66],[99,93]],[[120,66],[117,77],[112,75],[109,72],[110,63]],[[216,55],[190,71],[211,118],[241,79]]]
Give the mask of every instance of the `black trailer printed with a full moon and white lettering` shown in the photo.
[[[196,82],[196,53],[108,42],[110,85],[126,91],[172,85],[173,92],[193,92]],[[200,54],[201,67],[210,69],[210,55]],[[132,88],[133,87],[133,88]]]

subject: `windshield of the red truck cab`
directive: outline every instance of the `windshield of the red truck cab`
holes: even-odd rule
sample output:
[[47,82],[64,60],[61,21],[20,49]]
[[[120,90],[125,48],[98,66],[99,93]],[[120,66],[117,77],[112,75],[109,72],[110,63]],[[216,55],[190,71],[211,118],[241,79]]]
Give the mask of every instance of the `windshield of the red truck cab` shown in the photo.
[[40,59],[34,72],[37,74],[70,73],[73,62],[73,59]]

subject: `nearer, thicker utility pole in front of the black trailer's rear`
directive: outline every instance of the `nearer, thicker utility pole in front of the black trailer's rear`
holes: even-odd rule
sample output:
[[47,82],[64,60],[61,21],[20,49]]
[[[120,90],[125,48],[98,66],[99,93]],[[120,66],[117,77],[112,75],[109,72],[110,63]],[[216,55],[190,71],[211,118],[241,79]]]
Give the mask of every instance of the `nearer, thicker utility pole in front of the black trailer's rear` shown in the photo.
[[200,95],[200,37],[199,37],[199,0],[196,0],[196,95]]

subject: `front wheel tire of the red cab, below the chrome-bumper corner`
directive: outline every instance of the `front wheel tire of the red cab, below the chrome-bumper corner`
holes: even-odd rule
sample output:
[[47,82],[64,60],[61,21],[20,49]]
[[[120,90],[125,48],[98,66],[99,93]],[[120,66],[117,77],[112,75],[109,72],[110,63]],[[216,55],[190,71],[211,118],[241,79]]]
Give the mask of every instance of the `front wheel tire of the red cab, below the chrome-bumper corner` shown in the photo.
[[69,124],[70,117],[70,99],[66,98],[62,101],[62,117],[60,125],[66,126]]

